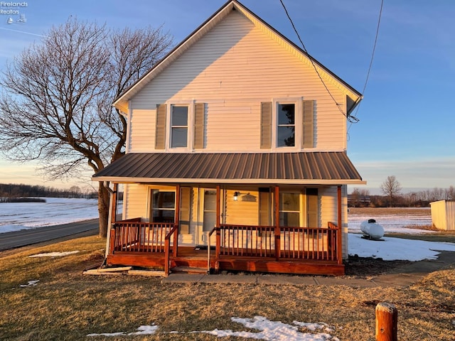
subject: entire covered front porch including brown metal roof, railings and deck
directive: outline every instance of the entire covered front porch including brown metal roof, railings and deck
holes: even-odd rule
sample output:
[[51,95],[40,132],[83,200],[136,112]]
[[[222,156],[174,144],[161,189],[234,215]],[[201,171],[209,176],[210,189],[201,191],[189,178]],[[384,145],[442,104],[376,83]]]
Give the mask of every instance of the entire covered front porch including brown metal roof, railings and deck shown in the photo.
[[343,151],[130,153],[93,179],[111,191],[107,264],[165,274],[342,275],[346,188],[365,183]]

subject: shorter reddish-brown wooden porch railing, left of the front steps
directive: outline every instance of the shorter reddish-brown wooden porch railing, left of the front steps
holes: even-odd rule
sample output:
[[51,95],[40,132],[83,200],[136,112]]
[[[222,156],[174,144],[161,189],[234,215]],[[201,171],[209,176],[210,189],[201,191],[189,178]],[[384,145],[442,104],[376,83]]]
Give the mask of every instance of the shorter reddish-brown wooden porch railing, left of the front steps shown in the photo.
[[[141,222],[140,218],[114,222],[111,229],[110,253],[131,251],[164,254],[166,236],[174,227],[173,223]],[[172,244],[176,245],[175,239]]]

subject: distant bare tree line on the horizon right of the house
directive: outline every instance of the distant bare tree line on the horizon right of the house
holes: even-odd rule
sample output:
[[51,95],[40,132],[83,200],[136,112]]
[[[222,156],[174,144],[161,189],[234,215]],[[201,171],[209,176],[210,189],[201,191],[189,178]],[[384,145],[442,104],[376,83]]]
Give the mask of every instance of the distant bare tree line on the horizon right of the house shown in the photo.
[[349,207],[429,207],[438,200],[455,200],[455,187],[433,188],[410,193],[390,195],[370,195],[369,190],[354,188],[348,195]]

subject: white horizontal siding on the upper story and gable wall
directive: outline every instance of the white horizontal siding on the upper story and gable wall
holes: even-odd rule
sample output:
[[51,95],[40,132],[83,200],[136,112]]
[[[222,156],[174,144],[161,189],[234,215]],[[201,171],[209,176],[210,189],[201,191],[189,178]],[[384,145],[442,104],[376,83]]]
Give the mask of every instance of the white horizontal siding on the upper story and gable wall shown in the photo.
[[[346,94],[331,82],[326,85],[346,108]],[[144,151],[146,146],[154,150],[149,144],[155,131],[150,126],[153,117],[142,124],[144,119],[134,120],[135,113],[146,114],[156,103],[191,100],[205,102],[204,151],[264,151],[261,102],[287,97],[316,101],[314,150],[346,148],[346,118],[313,67],[234,11],[132,99],[134,143],[128,152]]]

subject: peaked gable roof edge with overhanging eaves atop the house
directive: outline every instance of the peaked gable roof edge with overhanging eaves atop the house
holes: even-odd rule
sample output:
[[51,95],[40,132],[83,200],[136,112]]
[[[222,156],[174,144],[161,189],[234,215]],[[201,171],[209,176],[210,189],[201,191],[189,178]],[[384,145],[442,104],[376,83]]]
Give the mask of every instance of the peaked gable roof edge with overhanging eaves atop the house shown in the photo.
[[128,111],[128,102],[129,99],[132,99],[135,94],[137,94],[141,89],[143,89],[151,80],[154,79],[159,73],[161,73],[168,65],[173,63],[179,56],[181,56],[188,48],[190,48],[194,43],[196,43],[200,38],[202,38],[205,33],[208,33],[214,26],[216,26],[220,21],[223,20],[226,16],[228,16],[232,11],[238,11],[242,13],[248,20],[250,20],[257,28],[267,36],[271,37],[274,40],[277,40],[280,45],[284,48],[289,50],[291,53],[294,53],[302,63],[306,63],[310,67],[316,67],[319,72],[319,75],[328,82],[331,82],[332,85],[341,89],[342,92],[346,93],[346,95],[350,98],[351,107],[348,108],[349,114],[354,107],[360,102],[362,99],[362,94],[355,90],[353,87],[348,85],[348,83],[341,80],[340,77],[335,75],[331,70],[328,70],[325,66],[319,63],[318,60],[314,59],[306,53],[304,50],[299,48],[296,44],[292,43],[291,40],[283,36],[281,33],[276,31],[272,26],[259,18],[255,13],[252,13],[249,9],[245,6],[240,4],[237,0],[230,0],[225,5],[223,5],[218,11],[213,13],[210,18],[208,18],[204,23],[202,23],[198,28],[196,28],[193,33],[191,33],[188,37],[186,37],[180,44],[176,45],[159,63],[157,63],[154,67],[146,72],[137,82],[131,85],[127,90],[125,90],[122,94],[119,95],[116,99],[114,99],[114,107],[119,109],[121,112],[127,113]]

